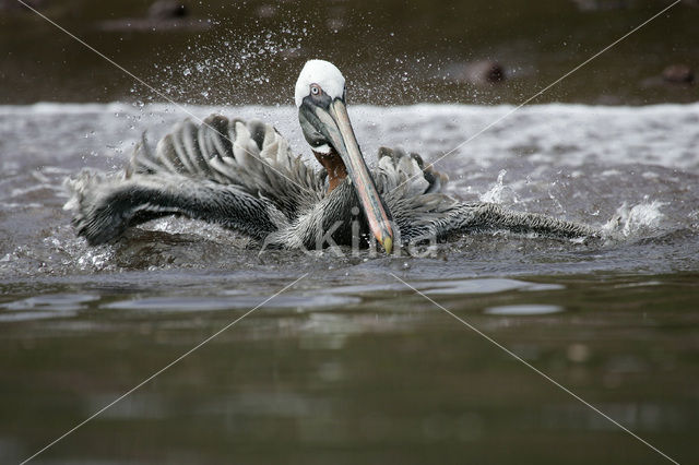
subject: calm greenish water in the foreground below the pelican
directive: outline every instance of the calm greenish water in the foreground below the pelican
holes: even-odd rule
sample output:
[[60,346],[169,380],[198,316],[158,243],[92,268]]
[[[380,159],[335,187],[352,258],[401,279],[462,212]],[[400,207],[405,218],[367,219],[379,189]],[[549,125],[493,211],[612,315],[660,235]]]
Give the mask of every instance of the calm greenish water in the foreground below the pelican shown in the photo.
[[[692,462],[696,274],[424,281],[398,273],[675,460]],[[311,273],[37,463],[664,462],[424,297],[375,277],[368,285]],[[171,284],[153,288],[154,281]],[[289,281],[127,273],[56,283],[48,295],[4,286],[2,461],[34,453],[241,317],[266,298],[262,289]]]

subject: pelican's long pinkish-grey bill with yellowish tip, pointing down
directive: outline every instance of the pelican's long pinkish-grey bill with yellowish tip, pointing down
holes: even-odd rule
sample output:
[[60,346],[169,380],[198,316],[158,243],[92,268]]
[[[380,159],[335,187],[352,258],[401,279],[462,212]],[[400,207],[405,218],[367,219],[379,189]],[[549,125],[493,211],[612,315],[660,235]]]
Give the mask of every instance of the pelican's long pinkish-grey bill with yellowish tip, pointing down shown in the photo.
[[334,98],[328,109],[316,106],[315,112],[321,123],[321,128],[318,129],[332,144],[347,168],[347,175],[357,192],[371,233],[383,246],[386,252],[391,253],[393,249],[392,218],[362,156],[344,102]]

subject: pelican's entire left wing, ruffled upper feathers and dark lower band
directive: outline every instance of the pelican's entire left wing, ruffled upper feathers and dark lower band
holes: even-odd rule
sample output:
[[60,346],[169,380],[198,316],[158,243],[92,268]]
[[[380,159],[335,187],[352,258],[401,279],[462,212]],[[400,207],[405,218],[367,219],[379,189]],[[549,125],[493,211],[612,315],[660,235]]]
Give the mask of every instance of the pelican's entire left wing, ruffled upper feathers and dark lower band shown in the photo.
[[83,170],[68,179],[66,208],[76,211],[73,223],[91,245],[166,215],[263,239],[322,196],[322,183],[272,126],[211,116],[199,127],[178,123],[154,153],[143,141],[123,176]]

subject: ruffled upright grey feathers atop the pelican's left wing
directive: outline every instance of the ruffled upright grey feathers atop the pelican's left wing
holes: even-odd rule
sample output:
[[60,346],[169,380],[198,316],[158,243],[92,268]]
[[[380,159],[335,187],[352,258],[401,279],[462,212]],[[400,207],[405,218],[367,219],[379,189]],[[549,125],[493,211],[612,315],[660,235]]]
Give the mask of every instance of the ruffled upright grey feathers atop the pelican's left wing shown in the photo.
[[288,141],[273,126],[221,115],[210,116],[200,126],[189,119],[177,123],[155,153],[143,141],[127,168],[127,177],[163,172],[234,184],[269,199],[289,217],[324,192],[324,180],[293,155]]

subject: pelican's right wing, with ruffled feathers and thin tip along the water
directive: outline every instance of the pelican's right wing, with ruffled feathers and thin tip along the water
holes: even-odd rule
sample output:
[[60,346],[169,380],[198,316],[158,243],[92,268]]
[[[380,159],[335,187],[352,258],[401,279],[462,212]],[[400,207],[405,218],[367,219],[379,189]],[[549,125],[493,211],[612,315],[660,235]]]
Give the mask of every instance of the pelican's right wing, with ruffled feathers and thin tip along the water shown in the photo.
[[509,230],[557,238],[595,237],[597,229],[547,215],[521,213],[494,203],[464,203],[442,193],[446,175],[425,167],[417,154],[382,147],[377,184],[393,214],[402,241],[442,238],[452,233]]

